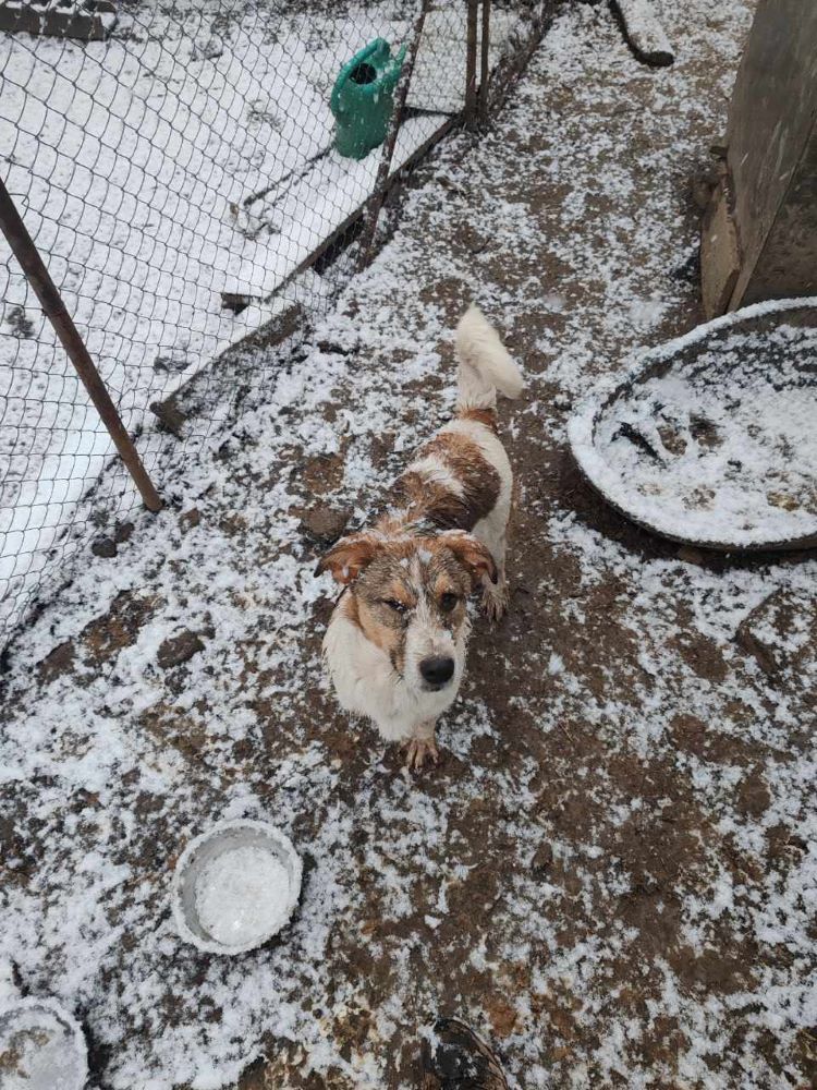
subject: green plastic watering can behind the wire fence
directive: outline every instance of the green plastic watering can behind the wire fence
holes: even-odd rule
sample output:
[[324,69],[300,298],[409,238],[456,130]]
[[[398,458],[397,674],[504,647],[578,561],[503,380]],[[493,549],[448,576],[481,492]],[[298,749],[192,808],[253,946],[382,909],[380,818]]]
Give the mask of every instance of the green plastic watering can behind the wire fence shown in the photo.
[[392,57],[389,43],[376,38],[341,69],[329,100],[341,155],[365,159],[386,140],[406,48]]

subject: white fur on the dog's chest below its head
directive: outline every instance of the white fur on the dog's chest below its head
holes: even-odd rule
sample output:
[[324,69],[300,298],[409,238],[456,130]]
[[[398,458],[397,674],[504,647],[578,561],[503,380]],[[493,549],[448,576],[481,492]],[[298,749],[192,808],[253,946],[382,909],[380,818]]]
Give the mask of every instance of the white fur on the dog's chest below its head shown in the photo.
[[417,692],[394,671],[386,652],[336,609],[324,637],[324,657],[339,704],[371,719],[389,741],[412,738],[416,727],[434,722],[454,702],[465,667],[466,637],[463,631],[456,643],[451,683],[439,692]]

